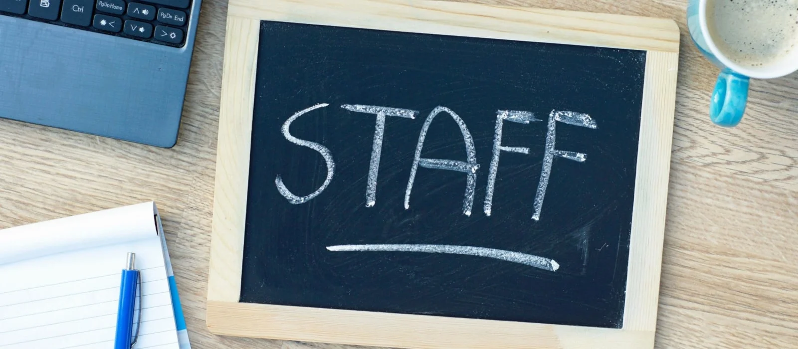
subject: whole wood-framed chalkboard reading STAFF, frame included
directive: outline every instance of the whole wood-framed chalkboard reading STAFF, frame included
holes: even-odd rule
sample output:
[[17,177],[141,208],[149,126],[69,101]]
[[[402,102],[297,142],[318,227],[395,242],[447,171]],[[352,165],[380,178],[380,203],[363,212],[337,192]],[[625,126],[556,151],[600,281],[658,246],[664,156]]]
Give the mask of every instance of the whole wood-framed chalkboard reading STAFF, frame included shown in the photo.
[[661,18],[230,0],[208,330],[653,348],[679,44]]

